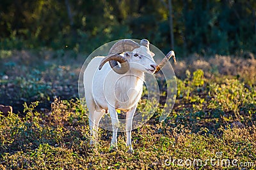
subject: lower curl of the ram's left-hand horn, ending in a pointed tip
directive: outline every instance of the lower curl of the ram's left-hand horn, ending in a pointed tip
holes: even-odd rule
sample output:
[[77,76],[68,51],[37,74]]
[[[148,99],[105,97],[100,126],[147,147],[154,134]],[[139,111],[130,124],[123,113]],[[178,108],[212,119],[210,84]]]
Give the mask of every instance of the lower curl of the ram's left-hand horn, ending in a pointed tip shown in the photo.
[[[127,71],[129,71],[130,69],[129,62],[127,59],[125,59],[125,57],[123,57],[122,55],[114,54],[108,55],[107,57],[102,59],[102,61],[100,62],[99,70],[102,69],[103,65],[108,61],[113,71],[118,74],[127,73]],[[117,62],[120,62],[121,67],[118,66]]]

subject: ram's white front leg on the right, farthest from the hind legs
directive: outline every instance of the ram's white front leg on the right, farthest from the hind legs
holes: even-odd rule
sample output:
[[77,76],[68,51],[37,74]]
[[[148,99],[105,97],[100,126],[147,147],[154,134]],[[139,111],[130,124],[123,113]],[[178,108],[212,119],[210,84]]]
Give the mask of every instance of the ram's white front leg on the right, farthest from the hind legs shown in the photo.
[[125,131],[126,131],[126,145],[129,146],[128,153],[133,153],[132,149],[132,118],[136,111],[136,106],[132,107],[130,111],[126,113]]

